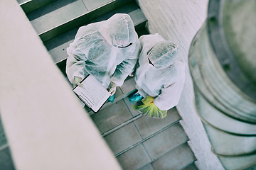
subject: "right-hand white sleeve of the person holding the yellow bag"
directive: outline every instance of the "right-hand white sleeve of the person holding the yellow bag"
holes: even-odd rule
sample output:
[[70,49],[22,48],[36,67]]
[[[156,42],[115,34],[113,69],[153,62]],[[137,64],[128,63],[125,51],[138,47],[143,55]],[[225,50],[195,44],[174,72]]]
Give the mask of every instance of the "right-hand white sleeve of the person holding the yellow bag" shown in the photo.
[[169,110],[178,104],[185,83],[185,64],[174,62],[178,75],[171,84],[164,84],[161,94],[154,99],[155,105],[162,111]]

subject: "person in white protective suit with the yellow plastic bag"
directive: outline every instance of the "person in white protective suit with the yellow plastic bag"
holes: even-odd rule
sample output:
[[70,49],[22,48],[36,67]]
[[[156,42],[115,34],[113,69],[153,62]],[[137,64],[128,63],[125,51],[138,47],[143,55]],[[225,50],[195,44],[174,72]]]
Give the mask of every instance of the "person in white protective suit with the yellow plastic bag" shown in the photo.
[[181,97],[185,64],[176,60],[177,45],[161,35],[142,35],[139,41],[141,52],[134,77],[138,92],[129,100],[139,101],[134,109],[142,114],[164,118]]

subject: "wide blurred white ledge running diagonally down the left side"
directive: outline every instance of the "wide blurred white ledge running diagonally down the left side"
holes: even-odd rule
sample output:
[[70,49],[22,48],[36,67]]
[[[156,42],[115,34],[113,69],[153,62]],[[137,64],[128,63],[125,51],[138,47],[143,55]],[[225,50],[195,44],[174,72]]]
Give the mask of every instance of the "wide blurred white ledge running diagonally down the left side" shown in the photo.
[[0,111],[16,169],[121,169],[16,0],[0,1],[0,23]]

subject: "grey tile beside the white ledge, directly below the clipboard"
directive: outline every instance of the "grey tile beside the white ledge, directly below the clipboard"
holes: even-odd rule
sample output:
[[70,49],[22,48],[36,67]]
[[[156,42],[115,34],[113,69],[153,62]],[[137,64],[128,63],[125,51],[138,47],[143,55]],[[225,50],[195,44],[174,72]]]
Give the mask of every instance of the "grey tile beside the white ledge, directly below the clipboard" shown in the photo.
[[91,118],[100,132],[104,133],[129,120],[132,115],[124,101],[119,101],[93,114]]

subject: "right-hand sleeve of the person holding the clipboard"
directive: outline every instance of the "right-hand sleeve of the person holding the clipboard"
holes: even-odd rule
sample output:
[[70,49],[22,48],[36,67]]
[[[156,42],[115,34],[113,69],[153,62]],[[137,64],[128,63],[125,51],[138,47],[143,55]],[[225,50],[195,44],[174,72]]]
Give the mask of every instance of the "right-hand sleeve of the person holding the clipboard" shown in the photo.
[[139,40],[134,43],[134,50],[128,53],[127,58],[117,65],[117,68],[114,71],[110,81],[117,84],[117,86],[122,86],[124,84],[124,80],[128,77],[128,75],[132,72],[137,63],[138,55],[139,55]]

